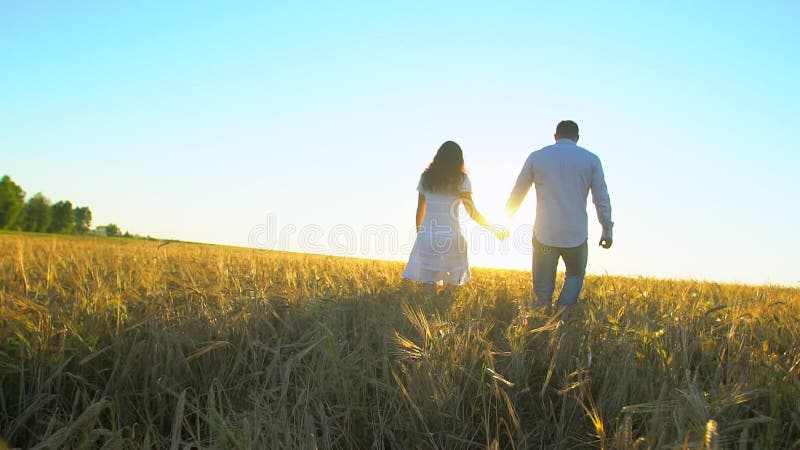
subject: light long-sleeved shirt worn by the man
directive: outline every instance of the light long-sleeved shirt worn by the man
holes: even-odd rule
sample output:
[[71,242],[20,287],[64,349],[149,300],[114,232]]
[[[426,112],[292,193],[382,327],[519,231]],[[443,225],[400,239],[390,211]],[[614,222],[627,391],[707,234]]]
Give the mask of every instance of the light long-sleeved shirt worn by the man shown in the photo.
[[611,237],[611,200],[608,197],[603,166],[594,153],[570,139],[528,156],[517,184],[508,199],[508,208],[516,211],[531,184],[536,185],[536,222],[534,237],[553,247],[577,247],[588,238],[586,199],[592,192],[597,220],[603,236]]

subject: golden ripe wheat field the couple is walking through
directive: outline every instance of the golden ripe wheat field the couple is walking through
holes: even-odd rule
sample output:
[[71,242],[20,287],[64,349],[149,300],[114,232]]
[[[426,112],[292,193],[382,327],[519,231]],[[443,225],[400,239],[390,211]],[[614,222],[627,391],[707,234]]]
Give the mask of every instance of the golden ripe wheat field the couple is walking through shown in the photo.
[[800,291],[0,234],[0,448],[800,448]]

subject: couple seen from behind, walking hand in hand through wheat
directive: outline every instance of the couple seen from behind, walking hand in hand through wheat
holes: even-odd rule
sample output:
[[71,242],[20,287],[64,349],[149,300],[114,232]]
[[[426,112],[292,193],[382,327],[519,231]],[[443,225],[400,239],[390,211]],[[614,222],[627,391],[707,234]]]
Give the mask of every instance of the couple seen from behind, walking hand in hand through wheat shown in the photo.
[[[600,246],[612,243],[611,201],[603,166],[597,155],[577,145],[578,125],[565,120],[556,126],[555,143],[528,156],[511,191],[506,213],[516,213],[531,186],[536,189],[533,227],[533,292],[536,300],[551,306],[556,268],[563,258],[566,277],[558,306],[577,303],[586,273],[589,192],[603,227]],[[464,169],[461,147],[447,141],[422,173],[417,197],[417,238],[403,276],[420,283],[455,289],[469,281],[467,245],[458,221],[458,207],[481,226],[504,239],[508,230],[492,226],[472,201],[472,184]]]

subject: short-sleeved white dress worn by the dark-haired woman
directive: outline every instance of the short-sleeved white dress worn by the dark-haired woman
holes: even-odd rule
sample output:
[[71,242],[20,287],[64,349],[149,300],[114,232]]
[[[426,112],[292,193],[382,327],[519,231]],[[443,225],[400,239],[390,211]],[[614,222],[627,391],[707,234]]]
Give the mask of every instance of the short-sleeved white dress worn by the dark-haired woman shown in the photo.
[[[459,195],[424,190],[421,178],[417,191],[425,196],[425,218],[403,277],[421,283],[456,286],[466,283],[470,273],[467,241],[461,235],[458,221],[461,205]],[[459,192],[472,192],[472,183],[466,175]]]

